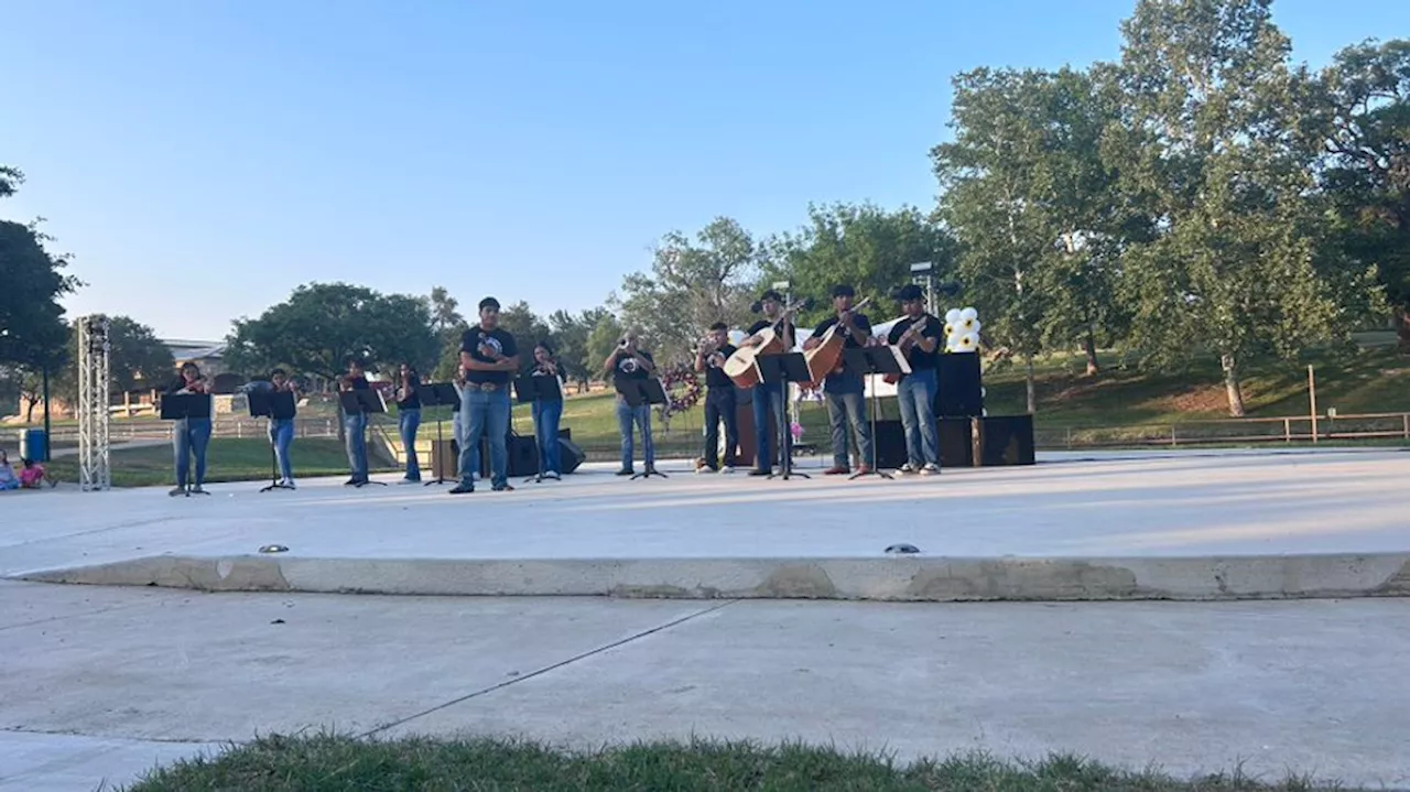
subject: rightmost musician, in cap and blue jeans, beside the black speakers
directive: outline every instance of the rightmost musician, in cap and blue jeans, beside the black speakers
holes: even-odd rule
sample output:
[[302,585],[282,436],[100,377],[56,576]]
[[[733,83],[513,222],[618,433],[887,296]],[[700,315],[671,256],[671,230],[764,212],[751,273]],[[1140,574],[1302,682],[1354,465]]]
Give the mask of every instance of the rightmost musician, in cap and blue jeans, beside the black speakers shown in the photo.
[[911,373],[895,386],[905,428],[905,465],[902,474],[940,472],[939,427],[935,423],[935,390],[939,386],[939,348],[945,324],[925,313],[925,293],[915,283],[897,292],[905,317],[895,323],[887,341],[900,347],[911,364]]

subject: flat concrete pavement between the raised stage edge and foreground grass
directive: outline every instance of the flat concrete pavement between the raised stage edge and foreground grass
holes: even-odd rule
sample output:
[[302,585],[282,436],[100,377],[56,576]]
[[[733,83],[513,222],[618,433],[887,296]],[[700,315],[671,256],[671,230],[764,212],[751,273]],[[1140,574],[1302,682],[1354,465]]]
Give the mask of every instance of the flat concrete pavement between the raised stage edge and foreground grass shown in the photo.
[[1410,600],[839,603],[0,582],[0,791],[255,733],[1074,751],[1410,788]]

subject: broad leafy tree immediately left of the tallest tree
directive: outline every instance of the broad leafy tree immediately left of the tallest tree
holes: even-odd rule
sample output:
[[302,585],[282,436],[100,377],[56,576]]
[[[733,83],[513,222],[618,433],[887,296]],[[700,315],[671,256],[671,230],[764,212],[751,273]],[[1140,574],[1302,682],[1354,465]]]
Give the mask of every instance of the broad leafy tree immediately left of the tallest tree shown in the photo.
[[1121,235],[1114,178],[1098,155],[1114,120],[1093,73],[977,69],[955,79],[953,142],[932,149],[939,216],[957,237],[957,276],[984,335],[1026,361],[1097,345],[1124,327],[1114,300]]

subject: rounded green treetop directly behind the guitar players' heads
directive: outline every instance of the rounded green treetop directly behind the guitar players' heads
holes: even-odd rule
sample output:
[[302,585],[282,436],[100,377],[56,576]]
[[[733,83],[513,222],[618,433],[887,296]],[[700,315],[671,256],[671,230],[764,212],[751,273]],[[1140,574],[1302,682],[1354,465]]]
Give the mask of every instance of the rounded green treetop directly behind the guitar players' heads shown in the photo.
[[767,242],[766,264],[752,295],[774,280],[792,283],[794,299],[816,300],[804,321],[821,320],[830,311],[828,295],[838,283],[849,283],[857,299],[871,297],[863,313],[885,316],[895,309],[891,292],[911,282],[911,265],[935,264],[936,278],[949,278],[955,268],[950,237],[912,207],[885,211],[871,204],[809,206],[808,225],[784,233]]

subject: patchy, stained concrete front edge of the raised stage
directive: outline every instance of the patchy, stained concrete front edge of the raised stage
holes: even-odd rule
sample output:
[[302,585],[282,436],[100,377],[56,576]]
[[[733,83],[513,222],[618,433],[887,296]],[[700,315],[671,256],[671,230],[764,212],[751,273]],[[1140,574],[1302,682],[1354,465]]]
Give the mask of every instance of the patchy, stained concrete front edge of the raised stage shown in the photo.
[[13,579],[209,592],[677,599],[1235,600],[1410,596],[1410,552],[1204,558],[447,559],[158,555]]

